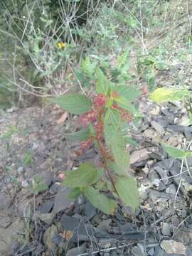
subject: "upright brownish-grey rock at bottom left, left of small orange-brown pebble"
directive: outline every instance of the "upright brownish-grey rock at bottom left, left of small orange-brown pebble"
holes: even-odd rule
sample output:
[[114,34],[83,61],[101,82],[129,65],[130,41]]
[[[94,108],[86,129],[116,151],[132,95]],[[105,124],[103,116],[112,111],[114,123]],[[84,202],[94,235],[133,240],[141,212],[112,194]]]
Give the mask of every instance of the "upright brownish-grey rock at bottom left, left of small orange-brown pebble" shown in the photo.
[[46,232],[43,234],[43,242],[44,245],[48,247],[49,250],[55,255],[55,252],[57,250],[57,247],[55,243],[53,242],[53,238],[55,235],[57,235],[58,229],[55,225],[51,225]]

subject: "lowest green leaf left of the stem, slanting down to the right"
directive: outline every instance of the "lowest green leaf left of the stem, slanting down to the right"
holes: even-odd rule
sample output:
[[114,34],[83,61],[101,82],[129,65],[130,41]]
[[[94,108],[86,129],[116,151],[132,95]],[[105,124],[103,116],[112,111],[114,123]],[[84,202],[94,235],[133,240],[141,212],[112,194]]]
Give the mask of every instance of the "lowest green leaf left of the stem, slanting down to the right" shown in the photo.
[[103,213],[114,215],[117,208],[117,203],[114,200],[107,198],[103,193],[92,187],[85,188],[84,195],[95,208],[102,210]]

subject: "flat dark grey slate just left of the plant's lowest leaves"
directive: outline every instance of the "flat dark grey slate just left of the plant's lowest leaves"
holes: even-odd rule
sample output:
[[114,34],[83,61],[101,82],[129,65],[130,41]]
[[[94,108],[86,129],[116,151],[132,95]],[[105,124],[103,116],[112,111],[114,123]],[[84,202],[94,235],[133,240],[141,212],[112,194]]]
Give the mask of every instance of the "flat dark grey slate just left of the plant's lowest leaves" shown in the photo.
[[67,190],[58,192],[55,197],[53,212],[59,213],[60,211],[65,210],[72,202],[73,201],[68,198]]

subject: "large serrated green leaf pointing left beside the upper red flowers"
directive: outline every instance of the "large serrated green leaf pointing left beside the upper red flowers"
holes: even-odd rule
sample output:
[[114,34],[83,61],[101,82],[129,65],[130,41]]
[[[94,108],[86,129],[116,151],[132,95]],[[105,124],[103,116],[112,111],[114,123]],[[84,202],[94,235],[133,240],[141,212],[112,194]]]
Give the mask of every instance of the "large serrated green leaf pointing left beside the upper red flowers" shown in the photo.
[[83,114],[92,108],[91,100],[85,95],[68,94],[53,98],[50,102],[60,105],[72,114]]

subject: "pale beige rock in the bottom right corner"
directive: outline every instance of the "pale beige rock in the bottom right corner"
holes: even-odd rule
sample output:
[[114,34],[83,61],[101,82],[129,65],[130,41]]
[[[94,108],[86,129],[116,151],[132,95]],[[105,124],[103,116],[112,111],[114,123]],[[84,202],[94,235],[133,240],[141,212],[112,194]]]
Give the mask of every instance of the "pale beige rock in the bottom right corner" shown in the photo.
[[174,240],[163,240],[161,242],[161,248],[164,249],[166,253],[186,255],[186,247],[182,244],[182,242],[176,242]]

